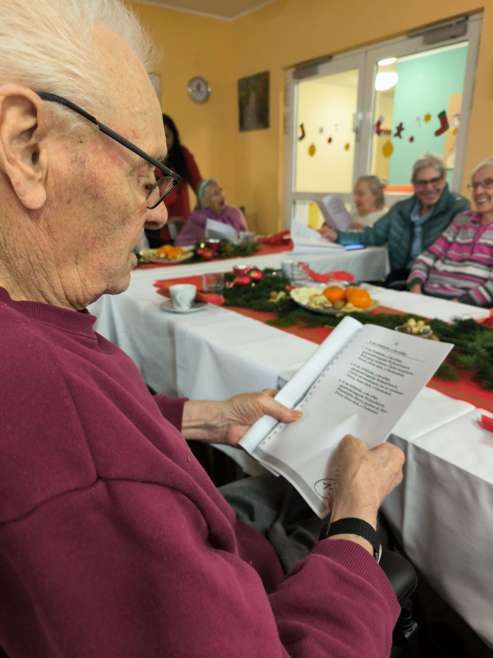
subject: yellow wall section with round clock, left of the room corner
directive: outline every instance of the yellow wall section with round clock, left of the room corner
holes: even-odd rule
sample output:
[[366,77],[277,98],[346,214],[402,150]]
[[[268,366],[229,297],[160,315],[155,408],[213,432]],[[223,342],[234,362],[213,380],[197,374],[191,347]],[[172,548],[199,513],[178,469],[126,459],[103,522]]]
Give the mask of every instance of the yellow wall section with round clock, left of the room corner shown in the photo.
[[[237,93],[231,23],[152,5],[131,3],[131,7],[162,51],[156,73],[161,75],[163,112],[176,122],[181,142],[193,153],[202,176],[218,178],[229,201],[239,205],[232,145]],[[212,89],[202,104],[187,94],[187,82],[198,75]]]

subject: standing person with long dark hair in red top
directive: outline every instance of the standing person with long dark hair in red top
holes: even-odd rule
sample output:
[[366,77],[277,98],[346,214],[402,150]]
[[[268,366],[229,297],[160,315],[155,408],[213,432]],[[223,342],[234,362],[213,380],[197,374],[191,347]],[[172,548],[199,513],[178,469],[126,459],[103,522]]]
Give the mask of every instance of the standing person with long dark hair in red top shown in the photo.
[[190,215],[187,184],[197,193],[197,188],[202,180],[195,158],[179,139],[179,132],[174,120],[168,114],[163,114],[162,122],[164,124],[166,146],[168,147],[166,166],[179,174],[181,181],[166,197],[166,209],[168,209],[166,226],[163,226],[160,230],[146,229],[145,234],[151,249],[174,240],[176,232],[181,229]]

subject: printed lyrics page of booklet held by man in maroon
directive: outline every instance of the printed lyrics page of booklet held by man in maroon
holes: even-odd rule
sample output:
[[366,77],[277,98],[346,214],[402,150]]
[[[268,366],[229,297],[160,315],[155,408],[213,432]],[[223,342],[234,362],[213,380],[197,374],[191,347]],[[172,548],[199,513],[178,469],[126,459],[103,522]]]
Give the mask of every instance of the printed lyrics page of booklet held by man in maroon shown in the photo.
[[365,325],[296,405],[304,417],[278,423],[252,455],[283,474],[323,518],[342,437],[370,447],[385,441],[452,347]]

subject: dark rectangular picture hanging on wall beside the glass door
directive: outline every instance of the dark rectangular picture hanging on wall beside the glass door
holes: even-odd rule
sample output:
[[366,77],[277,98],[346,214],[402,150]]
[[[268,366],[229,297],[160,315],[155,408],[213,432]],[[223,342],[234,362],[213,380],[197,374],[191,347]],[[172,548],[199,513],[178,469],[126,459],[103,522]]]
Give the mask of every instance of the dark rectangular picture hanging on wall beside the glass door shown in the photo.
[[269,127],[269,72],[238,80],[240,132]]

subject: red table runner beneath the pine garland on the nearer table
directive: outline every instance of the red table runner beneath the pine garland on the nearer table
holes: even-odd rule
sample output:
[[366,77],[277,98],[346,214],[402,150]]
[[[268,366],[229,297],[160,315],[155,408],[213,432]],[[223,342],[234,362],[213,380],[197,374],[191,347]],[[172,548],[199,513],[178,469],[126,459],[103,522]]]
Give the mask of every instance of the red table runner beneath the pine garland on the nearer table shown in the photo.
[[[166,286],[172,286],[177,283],[187,283],[197,286],[200,290],[202,287],[202,277],[201,276],[188,276],[186,278],[175,278],[167,279]],[[159,292],[159,290],[158,290]],[[275,318],[275,313],[268,313],[267,311],[253,311],[252,309],[242,309],[237,306],[227,306],[224,307],[229,311],[234,311],[240,315],[245,315],[248,318],[258,320],[259,322],[266,322],[267,320],[272,320]],[[401,311],[396,311],[395,309],[388,309],[385,306],[379,306],[369,313],[395,313],[396,315],[403,315]],[[292,327],[276,327],[281,331],[285,331],[288,334],[294,334],[294,336],[299,336],[300,338],[305,338],[306,340],[312,341],[312,343],[317,343],[319,345],[333,330],[333,327],[328,326],[318,326],[312,328],[304,328],[301,326],[292,326]],[[469,402],[476,407],[481,407],[482,409],[487,409],[488,411],[493,412],[493,395],[488,393],[481,388],[481,386],[472,380],[474,370],[459,370],[459,382],[448,382],[445,380],[432,377],[428,382],[427,386],[429,388],[434,388],[440,393],[445,393],[449,397],[454,397],[458,400],[463,400]]]

